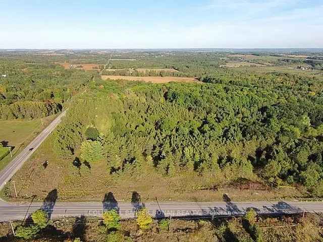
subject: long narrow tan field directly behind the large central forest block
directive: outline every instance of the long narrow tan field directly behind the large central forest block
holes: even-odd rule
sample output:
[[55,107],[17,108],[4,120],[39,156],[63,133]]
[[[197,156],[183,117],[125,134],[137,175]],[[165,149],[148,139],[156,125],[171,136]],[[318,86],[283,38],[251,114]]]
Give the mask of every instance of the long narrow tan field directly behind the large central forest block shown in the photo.
[[198,82],[193,77],[130,77],[130,76],[101,76],[103,80],[127,80],[127,81],[144,81],[151,83],[167,83],[167,82]]

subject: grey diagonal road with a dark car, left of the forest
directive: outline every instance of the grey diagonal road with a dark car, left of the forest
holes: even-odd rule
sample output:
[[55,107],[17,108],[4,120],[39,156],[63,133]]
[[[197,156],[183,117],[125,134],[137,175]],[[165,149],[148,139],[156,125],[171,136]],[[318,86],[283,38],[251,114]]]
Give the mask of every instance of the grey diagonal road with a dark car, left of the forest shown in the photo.
[[[0,172],[0,190],[6,185],[7,181],[19,170],[23,163],[34,153],[47,136],[61,123],[66,110],[55,118],[23,151],[21,151],[7,166]],[[30,150],[32,149],[32,150]]]

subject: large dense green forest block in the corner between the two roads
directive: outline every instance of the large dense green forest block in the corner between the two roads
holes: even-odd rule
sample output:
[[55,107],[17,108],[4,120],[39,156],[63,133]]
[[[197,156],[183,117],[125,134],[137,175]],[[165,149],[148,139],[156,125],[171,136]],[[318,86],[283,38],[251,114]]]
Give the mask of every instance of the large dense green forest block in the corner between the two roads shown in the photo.
[[92,165],[105,162],[112,174],[143,167],[170,177],[196,172],[210,188],[258,176],[323,196],[319,81],[281,74],[227,78],[92,83],[57,130],[54,149],[70,162],[77,154]]

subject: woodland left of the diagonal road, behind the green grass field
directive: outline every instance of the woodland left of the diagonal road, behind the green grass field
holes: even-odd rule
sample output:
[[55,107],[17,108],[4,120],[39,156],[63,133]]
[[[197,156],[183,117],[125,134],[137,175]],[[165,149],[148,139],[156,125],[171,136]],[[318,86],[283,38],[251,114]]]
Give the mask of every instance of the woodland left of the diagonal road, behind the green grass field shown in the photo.
[[58,65],[0,59],[0,118],[44,117],[61,111],[94,74]]

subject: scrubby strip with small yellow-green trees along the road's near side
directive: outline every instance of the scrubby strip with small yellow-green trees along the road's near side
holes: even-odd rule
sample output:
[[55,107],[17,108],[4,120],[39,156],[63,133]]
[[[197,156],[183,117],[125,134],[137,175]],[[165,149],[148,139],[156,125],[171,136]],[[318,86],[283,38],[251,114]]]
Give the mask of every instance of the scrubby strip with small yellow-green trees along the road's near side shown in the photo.
[[[113,210],[111,210],[113,211]],[[257,216],[250,210],[244,217],[153,220],[144,210],[136,219],[120,220],[116,212],[94,217],[50,220],[43,210],[31,218],[0,223],[0,241],[130,242],[130,241],[323,241],[320,214],[281,217]]]

